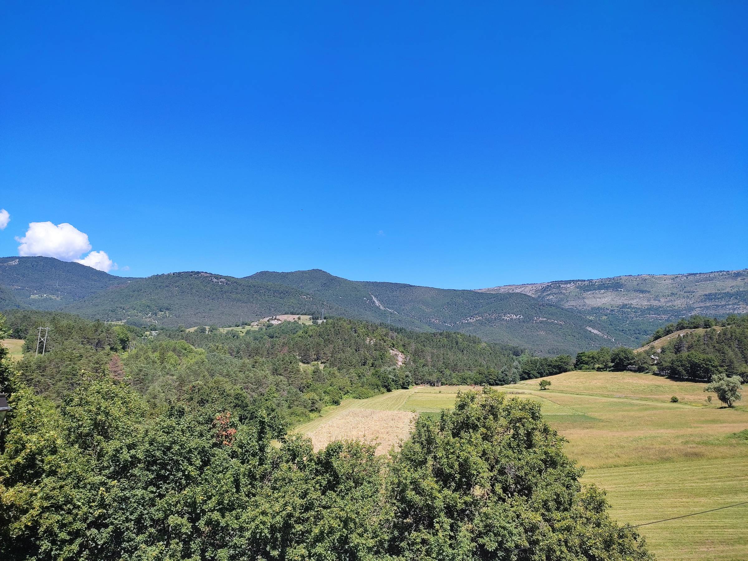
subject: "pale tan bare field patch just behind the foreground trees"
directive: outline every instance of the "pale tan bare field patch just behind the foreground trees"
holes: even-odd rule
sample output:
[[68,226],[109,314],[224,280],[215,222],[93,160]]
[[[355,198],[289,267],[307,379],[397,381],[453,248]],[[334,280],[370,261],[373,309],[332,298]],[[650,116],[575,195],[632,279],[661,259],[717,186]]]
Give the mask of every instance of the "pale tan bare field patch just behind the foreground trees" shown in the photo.
[[308,432],[307,436],[312,439],[314,450],[322,450],[337,440],[360,440],[378,444],[376,453],[386,454],[410,436],[417,417],[412,411],[350,409]]

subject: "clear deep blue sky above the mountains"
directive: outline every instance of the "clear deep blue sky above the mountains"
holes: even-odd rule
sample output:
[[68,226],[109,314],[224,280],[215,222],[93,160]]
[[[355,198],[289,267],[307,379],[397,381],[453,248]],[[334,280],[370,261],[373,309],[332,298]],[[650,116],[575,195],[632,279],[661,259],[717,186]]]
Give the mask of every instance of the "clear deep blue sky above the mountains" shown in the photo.
[[5,1],[0,254],[51,221],[137,276],[748,267],[747,19],[740,1]]

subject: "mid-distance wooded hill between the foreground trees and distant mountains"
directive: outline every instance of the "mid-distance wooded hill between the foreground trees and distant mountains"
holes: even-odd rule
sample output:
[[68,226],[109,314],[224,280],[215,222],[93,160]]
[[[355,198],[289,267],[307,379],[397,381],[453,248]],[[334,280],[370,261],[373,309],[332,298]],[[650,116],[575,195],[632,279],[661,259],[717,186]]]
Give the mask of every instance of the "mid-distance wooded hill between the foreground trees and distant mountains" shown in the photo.
[[[49,337],[46,353],[34,357],[40,324],[49,326]],[[82,371],[116,370],[153,403],[233,387],[250,396],[272,395],[285,423],[307,420],[346,397],[420,383],[506,384],[563,372],[573,362],[568,355],[539,358],[465,334],[340,318],[319,325],[283,322],[244,335],[180,330],[153,335],[67,313],[11,310],[7,327],[12,337],[25,339],[19,380],[55,401],[82,383]]]

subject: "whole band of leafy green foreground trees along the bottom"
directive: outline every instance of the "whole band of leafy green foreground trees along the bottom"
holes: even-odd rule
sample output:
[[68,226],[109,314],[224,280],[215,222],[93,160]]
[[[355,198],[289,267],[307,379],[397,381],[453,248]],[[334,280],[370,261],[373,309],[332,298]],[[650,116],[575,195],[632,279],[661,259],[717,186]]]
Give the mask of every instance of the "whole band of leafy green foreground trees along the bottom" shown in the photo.
[[356,442],[315,453],[269,427],[263,399],[152,409],[89,376],[59,405],[28,388],[12,405],[7,561],[651,559],[539,405],[492,390],[421,417],[391,462]]

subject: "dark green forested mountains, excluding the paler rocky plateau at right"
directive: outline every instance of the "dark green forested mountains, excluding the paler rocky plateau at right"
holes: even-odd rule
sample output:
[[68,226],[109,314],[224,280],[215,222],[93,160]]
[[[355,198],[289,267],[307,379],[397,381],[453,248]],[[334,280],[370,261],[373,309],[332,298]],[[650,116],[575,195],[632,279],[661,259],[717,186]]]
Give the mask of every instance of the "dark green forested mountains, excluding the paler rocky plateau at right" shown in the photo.
[[180,272],[126,279],[48,257],[16,257],[1,261],[0,285],[13,294],[10,307],[17,302],[141,327],[221,328],[286,313],[321,316],[324,307],[328,316],[459,331],[543,355],[634,344],[601,322],[523,294],[348,281],[316,269],[247,278]]

